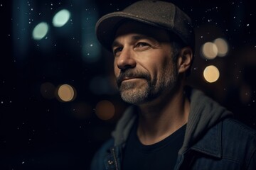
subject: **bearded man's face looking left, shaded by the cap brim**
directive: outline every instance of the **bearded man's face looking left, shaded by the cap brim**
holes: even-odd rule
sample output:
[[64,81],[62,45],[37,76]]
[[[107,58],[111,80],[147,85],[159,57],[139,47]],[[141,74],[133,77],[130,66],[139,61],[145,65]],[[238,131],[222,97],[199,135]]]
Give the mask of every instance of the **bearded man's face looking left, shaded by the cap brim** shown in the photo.
[[123,23],[112,50],[117,86],[127,103],[144,104],[174,89],[178,71],[166,30],[134,21]]

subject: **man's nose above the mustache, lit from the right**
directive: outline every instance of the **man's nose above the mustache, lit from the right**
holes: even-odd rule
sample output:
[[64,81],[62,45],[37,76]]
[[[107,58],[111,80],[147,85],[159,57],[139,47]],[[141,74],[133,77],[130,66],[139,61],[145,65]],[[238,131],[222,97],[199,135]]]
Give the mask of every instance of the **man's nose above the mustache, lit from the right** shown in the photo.
[[123,48],[119,57],[117,57],[117,67],[121,70],[131,69],[136,66],[134,54],[129,48]]

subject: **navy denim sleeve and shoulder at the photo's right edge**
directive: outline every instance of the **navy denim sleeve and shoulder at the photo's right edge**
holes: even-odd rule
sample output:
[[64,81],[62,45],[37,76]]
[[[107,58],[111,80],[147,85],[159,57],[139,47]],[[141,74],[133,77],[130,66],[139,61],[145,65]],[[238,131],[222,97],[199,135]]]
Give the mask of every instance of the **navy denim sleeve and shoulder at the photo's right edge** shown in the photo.
[[[233,118],[222,122],[222,148],[225,159],[255,167],[256,130]],[[247,169],[247,168],[245,168]]]

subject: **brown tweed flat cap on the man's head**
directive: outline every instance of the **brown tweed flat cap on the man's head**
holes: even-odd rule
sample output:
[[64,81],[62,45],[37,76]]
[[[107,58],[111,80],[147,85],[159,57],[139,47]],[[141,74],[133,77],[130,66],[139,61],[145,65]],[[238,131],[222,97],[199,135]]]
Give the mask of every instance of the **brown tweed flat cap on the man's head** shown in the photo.
[[97,39],[107,50],[112,51],[116,30],[125,20],[164,28],[178,35],[185,45],[192,48],[194,46],[193,26],[186,13],[170,2],[142,0],[124,8],[123,11],[108,13],[97,21]]

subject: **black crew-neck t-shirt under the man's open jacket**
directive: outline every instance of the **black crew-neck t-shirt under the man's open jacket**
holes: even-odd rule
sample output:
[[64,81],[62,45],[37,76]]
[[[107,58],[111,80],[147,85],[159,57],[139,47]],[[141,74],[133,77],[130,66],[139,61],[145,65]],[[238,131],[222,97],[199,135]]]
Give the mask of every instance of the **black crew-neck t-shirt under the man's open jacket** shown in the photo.
[[153,145],[143,145],[137,136],[137,125],[132,128],[124,148],[123,170],[174,169],[178,150],[184,140],[186,125],[169,137]]

